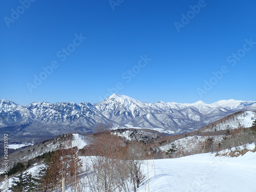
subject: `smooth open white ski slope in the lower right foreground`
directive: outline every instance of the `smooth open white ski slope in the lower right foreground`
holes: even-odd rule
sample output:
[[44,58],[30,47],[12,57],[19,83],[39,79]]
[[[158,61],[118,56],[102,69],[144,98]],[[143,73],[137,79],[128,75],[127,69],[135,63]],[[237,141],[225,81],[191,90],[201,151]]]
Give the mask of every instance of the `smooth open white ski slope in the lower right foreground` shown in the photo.
[[[249,146],[253,147],[254,144]],[[256,153],[247,152],[244,156],[233,158],[215,157],[215,154],[207,153],[148,160],[150,191],[255,192],[255,159]],[[148,191],[146,162],[143,164],[143,173],[146,178],[138,192]]]

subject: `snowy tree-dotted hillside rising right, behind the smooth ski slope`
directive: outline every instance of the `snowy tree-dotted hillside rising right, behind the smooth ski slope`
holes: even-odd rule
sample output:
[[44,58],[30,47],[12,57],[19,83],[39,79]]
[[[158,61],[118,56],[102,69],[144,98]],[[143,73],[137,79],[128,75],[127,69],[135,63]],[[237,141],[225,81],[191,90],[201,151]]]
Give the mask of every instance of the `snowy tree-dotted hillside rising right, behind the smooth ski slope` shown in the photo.
[[[155,146],[154,148],[157,151],[166,152],[174,143],[178,147],[177,157],[187,154],[198,154],[202,153],[202,143],[210,138],[211,140],[208,142],[211,143],[211,150],[217,150],[217,146],[220,146],[220,144],[223,143],[223,138],[227,136],[226,130],[229,130],[231,133],[231,130],[234,129],[251,127],[255,119],[256,112],[236,112],[202,127],[197,132],[179,135],[179,138],[175,139],[173,137],[176,136],[167,137],[165,138],[166,142],[162,140],[162,142],[159,142],[159,146]],[[242,139],[241,136],[239,136],[239,138]]]

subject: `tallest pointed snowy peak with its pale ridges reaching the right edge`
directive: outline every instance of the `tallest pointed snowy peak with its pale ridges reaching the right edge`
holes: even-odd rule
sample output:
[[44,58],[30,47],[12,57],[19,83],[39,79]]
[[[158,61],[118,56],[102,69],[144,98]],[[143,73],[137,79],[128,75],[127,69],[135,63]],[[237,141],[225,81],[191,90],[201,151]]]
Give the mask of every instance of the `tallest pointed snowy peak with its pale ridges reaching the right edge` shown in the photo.
[[[195,131],[227,115],[243,109],[255,109],[255,101],[224,100],[212,104],[145,103],[113,94],[95,104],[107,118],[120,123],[146,128],[162,128],[175,133]],[[244,106],[244,108],[243,108]]]

